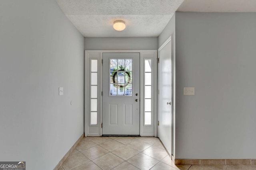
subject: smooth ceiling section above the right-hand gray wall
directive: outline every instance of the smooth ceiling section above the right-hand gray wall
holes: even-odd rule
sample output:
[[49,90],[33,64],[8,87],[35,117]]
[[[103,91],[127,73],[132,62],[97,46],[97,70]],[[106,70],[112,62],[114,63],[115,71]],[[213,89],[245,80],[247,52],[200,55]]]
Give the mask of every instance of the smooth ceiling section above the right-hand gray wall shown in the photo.
[[180,12],[256,12],[256,0],[184,0]]

